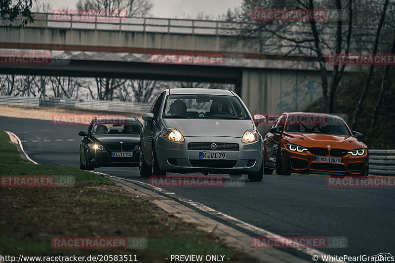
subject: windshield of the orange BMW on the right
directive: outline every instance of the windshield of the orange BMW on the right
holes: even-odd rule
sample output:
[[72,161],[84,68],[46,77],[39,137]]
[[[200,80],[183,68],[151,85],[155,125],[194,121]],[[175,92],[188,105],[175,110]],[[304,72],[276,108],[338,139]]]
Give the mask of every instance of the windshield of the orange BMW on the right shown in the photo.
[[341,118],[328,115],[289,115],[285,125],[285,131],[351,135],[346,123]]

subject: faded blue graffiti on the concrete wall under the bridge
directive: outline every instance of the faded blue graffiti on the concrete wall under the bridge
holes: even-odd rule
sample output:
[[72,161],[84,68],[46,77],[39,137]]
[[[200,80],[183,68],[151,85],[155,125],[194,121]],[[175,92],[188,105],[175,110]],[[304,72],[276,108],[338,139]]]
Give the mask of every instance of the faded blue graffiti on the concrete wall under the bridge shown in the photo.
[[283,112],[300,110],[321,96],[321,85],[314,80],[310,80],[304,86],[294,86],[292,91],[281,91],[277,108]]

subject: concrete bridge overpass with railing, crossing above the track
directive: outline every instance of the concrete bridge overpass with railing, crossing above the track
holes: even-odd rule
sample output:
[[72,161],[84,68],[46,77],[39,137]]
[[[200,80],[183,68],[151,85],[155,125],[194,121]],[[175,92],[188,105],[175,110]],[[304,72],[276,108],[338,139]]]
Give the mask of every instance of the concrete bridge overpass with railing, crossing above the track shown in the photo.
[[[314,58],[260,54],[258,38],[240,39],[220,21],[127,18],[57,21],[36,14],[27,27],[1,21],[0,49],[46,53],[43,65],[2,64],[0,74],[98,76],[234,83],[252,113],[305,110],[321,97]],[[153,56],[219,56],[219,63],[157,63]]]

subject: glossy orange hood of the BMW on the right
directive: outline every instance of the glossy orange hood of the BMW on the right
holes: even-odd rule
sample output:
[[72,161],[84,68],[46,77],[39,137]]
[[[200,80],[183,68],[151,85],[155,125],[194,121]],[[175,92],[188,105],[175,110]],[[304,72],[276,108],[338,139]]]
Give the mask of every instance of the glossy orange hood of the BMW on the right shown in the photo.
[[340,148],[345,150],[367,148],[364,143],[359,142],[353,136],[347,135],[284,132],[284,137],[290,143],[304,147],[326,148],[330,145],[331,148]]

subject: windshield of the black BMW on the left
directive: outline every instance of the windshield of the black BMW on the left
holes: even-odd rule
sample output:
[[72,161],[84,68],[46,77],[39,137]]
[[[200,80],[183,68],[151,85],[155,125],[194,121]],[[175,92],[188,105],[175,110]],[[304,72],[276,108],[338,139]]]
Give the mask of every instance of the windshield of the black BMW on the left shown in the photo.
[[139,135],[141,126],[136,121],[122,123],[95,122],[91,128],[91,134],[111,135],[111,134],[129,134]]

